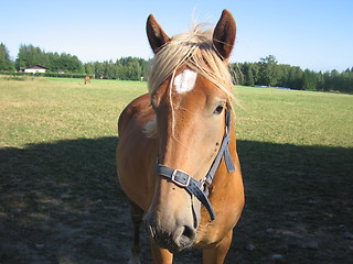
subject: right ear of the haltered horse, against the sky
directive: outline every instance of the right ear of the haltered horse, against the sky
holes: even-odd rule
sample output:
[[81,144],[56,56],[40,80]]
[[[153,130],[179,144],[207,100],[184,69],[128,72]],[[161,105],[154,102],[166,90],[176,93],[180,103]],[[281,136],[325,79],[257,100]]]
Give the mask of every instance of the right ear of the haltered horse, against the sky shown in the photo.
[[213,45],[222,59],[231,56],[236,35],[236,24],[232,13],[223,10],[221,19],[213,32]]

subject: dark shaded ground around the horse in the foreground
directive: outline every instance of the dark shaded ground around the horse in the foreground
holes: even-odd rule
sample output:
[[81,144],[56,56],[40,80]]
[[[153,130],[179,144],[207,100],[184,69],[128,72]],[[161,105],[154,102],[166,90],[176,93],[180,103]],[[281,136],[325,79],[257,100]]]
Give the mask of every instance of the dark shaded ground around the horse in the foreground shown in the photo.
[[[127,263],[131,224],[116,177],[117,143],[0,150],[0,263]],[[226,263],[352,260],[352,148],[238,141],[238,153],[246,207]],[[150,263],[146,233],[142,245],[142,263]],[[175,263],[200,257],[190,250]]]

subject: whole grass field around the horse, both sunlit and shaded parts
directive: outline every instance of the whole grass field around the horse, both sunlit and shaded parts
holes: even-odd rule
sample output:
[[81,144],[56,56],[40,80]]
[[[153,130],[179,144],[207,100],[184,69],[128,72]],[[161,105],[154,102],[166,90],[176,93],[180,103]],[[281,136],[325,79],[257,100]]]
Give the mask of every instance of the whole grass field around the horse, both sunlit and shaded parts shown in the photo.
[[[127,262],[117,119],[146,91],[138,81],[0,78],[1,263]],[[353,96],[235,92],[247,201],[226,263],[350,263]]]

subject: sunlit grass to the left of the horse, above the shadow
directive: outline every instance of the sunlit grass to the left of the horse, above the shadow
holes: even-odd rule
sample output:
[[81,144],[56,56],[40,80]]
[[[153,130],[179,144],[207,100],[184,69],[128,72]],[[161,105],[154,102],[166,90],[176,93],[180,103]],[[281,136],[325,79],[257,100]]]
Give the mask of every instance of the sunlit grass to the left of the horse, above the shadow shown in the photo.
[[38,78],[0,79],[0,146],[117,135],[124,107],[145,82]]

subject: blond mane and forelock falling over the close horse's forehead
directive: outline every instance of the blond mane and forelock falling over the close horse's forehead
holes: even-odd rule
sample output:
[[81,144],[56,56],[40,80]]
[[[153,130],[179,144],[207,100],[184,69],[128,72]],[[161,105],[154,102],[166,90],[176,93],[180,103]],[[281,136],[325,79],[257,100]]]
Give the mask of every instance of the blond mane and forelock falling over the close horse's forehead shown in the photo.
[[[191,32],[175,35],[169,43],[162,46],[152,59],[148,88],[152,94],[167,78],[172,77],[173,84],[176,70],[186,66],[202,75],[227,95],[228,107],[232,108],[233,79],[228,70],[227,62],[214,47],[213,30],[203,30],[204,25],[194,26]],[[170,98],[172,87],[170,87]],[[173,109],[172,109],[173,110]],[[145,127],[145,133],[149,138],[156,138],[156,120]]]

